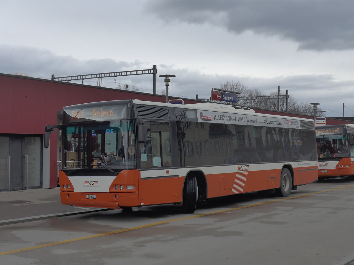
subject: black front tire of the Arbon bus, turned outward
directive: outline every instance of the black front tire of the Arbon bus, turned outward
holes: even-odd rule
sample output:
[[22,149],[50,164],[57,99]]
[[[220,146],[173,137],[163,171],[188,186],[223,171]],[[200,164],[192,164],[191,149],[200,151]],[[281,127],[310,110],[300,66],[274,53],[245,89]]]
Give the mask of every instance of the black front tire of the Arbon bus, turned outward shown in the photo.
[[197,179],[193,175],[188,175],[183,187],[183,212],[194,213],[197,202]]

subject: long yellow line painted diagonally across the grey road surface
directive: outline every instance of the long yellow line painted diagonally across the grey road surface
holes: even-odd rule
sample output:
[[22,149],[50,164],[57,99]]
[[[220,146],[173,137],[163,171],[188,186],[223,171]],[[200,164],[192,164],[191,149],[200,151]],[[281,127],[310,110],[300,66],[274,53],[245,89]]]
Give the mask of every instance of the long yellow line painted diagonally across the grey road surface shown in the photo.
[[11,250],[11,251],[0,252],[0,256],[1,255],[18,253],[18,252],[22,252],[22,251],[28,251],[28,250],[32,250],[32,249],[56,246],[56,245],[61,245],[61,244],[65,244],[65,243],[70,243],[70,242],[75,242],[75,241],[80,241],[80,240],[85,240],[85,239],[90,239],[90,238],[95,238],[95,237],[108,236],[108,235],[118,234],[118,233],[121,233],[121,232],[137,230],[137,229],[141,229],[141,228],[146,228],[146,227],[149,227],[149,226],[154,226],[154,225],[159,225],[159,224],[166,224],[166,223],[171,223],[171,222],[185,220],[185,219],[190,219],[190,218],[196,218],[196,217],[212,215],[212,214],[216,214],[216,213],[230,212],[230,211],[235,211],[235,210],[239,210],[239,209],[254,207],[254,206],[258,206],[258,205],[269,204],[271,202],[290,200],[290,199],[300,198],[300,197],[304,197],[304,196],[308,196],[308,195],[313,195],[313,194],[318,194],[318,193],[323,193],[323,192],[330,192],[332,190],[344,189],[344,188],[349,188],[349,187],[354,187],[354,185],[349,185],[349,186],[344,186],[344,187],[339,187],[339,188],[334,188],[334,189],[322,190],[320,192],[306,193],[306,194],[302,194],[302,195],[297,195],[297,196],[293,196],[293,197],[286,197],[286,198],[283,198],[283,199],[277,199],[277,200],[272,200],[272,201],[264,201],[264,202],[259,202],[258,204],[245,205],[245,206],[240,206],[240,207],[227,209],[227,210],[221,210],[221,211],[210,212],[210,213],[202,213],[202,214],[188,216],[188,217],[171,219],[171,220],[166,220],[166,221],[162,221],[162,222],[158,222],[158,223],[140,225],[140,226],[135,226],[135,227],[132,227],[132,228],[126,228],[126,229],[111,231],[111,232],[107,232],[107,233],[103,233],[103,234],[78,237],[78,238],[73,238],[73,239],[69,239],[69,240],[63,240],[63,241],[48,243],[48,244],[44,244],[44,245],[38,245],[38,246],[33,246],[33,247],[28,247],[28,248],[20,248],[20,249],[15,249],[15,250]]

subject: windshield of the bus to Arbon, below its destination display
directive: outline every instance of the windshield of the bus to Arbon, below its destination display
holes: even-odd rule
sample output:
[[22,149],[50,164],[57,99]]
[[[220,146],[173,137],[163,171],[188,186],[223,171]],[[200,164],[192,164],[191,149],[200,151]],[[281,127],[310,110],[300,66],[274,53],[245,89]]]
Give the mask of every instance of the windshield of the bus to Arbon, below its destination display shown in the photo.
[[131,119],[65,126],[62,141],[63,169],[90,167],[118,172],[137,168],[135,130]]

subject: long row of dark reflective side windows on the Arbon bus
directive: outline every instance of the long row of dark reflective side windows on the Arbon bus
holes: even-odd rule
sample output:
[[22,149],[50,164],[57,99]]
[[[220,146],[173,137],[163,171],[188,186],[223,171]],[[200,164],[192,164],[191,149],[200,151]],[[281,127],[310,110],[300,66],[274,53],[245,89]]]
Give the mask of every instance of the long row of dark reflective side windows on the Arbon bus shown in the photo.
[[[177,122],[181,166],[297,161],[317,156],[311,130],[198,123],[192,110],[188,115],[182,118],[185,122]],[[192,155],[193,143],[196,155]]]

